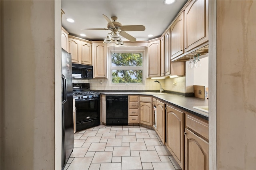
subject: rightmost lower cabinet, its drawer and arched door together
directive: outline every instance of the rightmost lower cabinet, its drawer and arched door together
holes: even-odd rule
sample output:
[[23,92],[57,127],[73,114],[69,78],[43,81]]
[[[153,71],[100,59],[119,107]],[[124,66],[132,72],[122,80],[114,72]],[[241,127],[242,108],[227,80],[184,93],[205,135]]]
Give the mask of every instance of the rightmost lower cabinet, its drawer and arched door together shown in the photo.
[[208,121],[186,114],[185,170],[209,170]]

